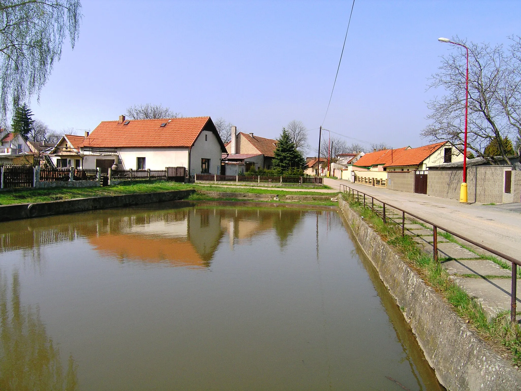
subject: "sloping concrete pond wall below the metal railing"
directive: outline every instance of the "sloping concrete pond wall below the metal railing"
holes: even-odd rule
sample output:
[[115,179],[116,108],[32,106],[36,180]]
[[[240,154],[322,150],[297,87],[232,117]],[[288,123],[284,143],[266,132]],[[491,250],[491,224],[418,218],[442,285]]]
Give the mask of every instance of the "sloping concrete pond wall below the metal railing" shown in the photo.
[[400,307],[436,372],[449,390],[521,390],[521,373],[479,338],[448,303],[427,286],[348,203],[339,206],[356,240]]

